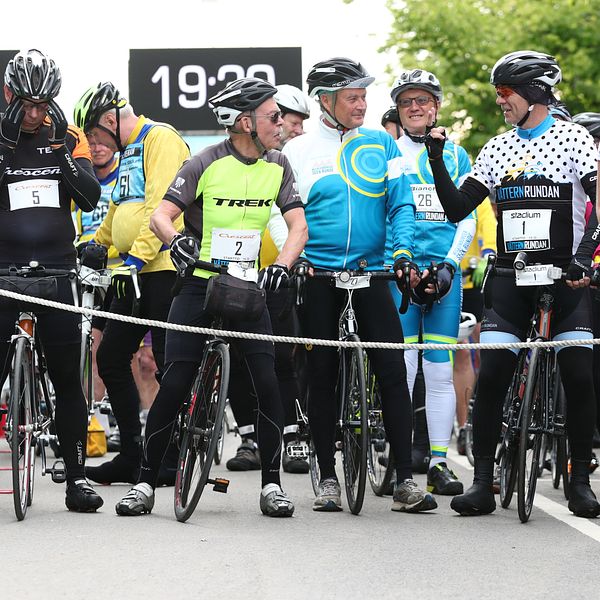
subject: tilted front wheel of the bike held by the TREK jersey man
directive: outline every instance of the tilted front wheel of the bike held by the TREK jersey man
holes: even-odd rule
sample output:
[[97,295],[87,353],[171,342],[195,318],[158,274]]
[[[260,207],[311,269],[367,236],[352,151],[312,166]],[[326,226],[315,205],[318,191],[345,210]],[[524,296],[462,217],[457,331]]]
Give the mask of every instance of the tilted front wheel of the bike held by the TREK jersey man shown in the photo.
[[175,517],[187,521],[208,481],[229,387],[229,349],[224,343],[208,347],[186,404],[182,420],[175,479]]

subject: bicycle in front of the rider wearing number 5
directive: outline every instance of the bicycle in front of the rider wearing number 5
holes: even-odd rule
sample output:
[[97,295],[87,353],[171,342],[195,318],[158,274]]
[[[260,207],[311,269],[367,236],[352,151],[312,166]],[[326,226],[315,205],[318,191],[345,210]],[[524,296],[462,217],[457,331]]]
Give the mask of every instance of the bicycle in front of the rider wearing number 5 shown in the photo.
[[[52,299],[55,278],[68,277],[76,297],[74,271],[45,269],[32,261],[29,266],[0,270],[4,289],[22,294]],[[50,393],[46,359],[37,330],[37,317],[33,308],[24,306],[15,322],[10,339],[6,366],[2,380],[9,377],[10,393],[7,405],[6,437],[11,449],[13,504],[19,521],[25,518],[33,502],[35,462],[41,456],[42,475],[49,473],[55,483],[66,481],[62,461],[47,467],[45,447],[55,441],[55,402]],[[36,452],[37,450],[37,452]]]

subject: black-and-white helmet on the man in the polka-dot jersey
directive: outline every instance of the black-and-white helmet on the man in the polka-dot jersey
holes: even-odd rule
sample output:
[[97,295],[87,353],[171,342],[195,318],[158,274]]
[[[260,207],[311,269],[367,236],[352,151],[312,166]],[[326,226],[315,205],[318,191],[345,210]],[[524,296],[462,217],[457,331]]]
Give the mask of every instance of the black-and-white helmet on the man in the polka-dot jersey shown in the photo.
[[538,85],[551,90],[562,80],[556,59],[535,50],[510,52],[499,59],[490,75],[492,85]]

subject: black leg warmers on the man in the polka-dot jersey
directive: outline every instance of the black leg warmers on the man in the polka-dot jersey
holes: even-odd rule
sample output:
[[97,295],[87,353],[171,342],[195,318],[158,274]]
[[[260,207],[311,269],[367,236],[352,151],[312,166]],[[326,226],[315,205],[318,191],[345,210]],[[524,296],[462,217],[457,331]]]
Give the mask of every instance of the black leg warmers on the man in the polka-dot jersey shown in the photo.
[[[473,454],[492,457],[500,438],[502,404],[517,356],[510,350],[482,350],[477,397],[473,408]],[[567,396],[567,431],[571,457],[589,461],[596,424],[596,404],[589,348],[563,348],[558,353]]]

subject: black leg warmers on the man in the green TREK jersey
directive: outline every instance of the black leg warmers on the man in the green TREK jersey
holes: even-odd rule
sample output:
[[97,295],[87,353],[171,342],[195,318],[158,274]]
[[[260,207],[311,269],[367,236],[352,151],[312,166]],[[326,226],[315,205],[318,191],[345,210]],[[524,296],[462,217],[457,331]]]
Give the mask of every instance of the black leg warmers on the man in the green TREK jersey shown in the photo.
[[[249,378],[258,399],[257,441],[261,456],[262,485],[279,484],[283,411],[273,357],[268,354],[248,354],[241,361],[243,364],[234,360],[232,355],[230,381]],[[156,485],[160,463],[169,445],[177,412],[194,382],[197,368],[196,363],[174,362],[165,369],[160,390],[146,422],[141,482],[153,487]]]

